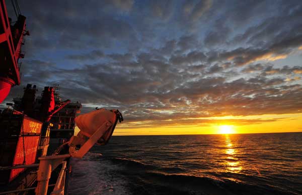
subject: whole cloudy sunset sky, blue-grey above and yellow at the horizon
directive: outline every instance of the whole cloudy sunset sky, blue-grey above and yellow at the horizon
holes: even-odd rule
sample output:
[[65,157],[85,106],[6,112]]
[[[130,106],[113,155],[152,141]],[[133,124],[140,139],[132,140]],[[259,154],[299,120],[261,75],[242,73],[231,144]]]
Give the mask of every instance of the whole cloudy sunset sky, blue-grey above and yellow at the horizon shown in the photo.
[[302,1],[19,6],[30,36],[7,102],[59,84],[82,113],[119,109],[114,135],[302,132]]

